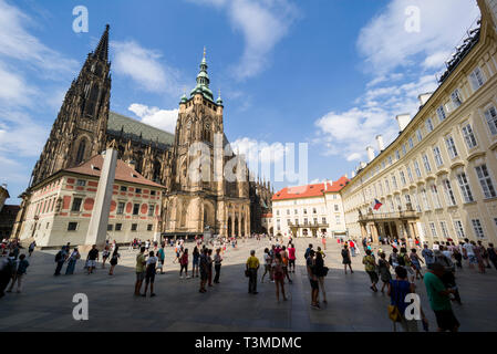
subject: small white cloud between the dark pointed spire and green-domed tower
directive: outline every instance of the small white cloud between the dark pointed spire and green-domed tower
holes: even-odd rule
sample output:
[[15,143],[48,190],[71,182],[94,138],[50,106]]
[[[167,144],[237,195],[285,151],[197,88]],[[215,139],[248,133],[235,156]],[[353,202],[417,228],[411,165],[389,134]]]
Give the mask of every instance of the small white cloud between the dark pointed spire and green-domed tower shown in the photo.
[[179,95],[176,70],[162,62],[162,53],[141,46],[135,41],[111,42],[113,71],[130,76],[141,88],[154,93]]

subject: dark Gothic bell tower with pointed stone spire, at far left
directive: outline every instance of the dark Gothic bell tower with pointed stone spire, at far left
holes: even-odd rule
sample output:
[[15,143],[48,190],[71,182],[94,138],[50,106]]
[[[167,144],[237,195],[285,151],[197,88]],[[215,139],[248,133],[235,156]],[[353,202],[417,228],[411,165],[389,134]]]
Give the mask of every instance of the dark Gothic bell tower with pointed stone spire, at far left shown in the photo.
[[111,100],[108,30],[65,94],[31,177],[33,186],[58,170],[82,164],[105,148]]

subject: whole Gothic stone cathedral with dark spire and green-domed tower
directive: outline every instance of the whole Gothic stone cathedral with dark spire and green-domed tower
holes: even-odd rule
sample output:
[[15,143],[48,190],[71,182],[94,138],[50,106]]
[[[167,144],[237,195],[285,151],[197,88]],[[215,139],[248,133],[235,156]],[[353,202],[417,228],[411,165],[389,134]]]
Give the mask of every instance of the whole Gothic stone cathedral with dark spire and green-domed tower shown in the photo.
[[[249,178],[246,163],[230,152],[224,134],[224,103],[220,97],[215,101],[209,88],[205,53],[196,87],[189,97],[182,97],[173,135],[111,112],[108,32],[107,25],[65,95],[33,169],[30,187],[21,196],[21,211],[12,237],[22,233],[37,186],[58,171],[83,165],[112,142],[120,159],[147,180],[165,187],[158,225],[163,235],[193,236],[206,229],[222,236],[260,231],[261,215],[271,209],[271,187]],[[209,150],[203,155],[208,160],[203,159],[200,166],[195,165],[196,156],[189,154],[198,143]],[[230,153],[221,152],[216,159],[216,148]],[[232,168],[239,178],[229,181],[225,168]],[[190,178],[191,171],[203,178]]]

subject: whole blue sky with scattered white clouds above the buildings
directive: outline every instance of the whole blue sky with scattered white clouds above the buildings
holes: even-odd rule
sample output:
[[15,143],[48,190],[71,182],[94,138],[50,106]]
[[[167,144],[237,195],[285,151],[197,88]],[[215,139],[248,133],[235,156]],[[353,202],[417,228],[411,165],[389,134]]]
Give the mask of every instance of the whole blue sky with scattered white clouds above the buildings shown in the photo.
[[[72,30],[76,6],[87,33]],[[413,6],[418,31],[405,28]],[[113,111],[173,129],[205,45],[230,142],[273,159],[308,143],[317,181],[350,176],[377,134],[395,137],[395,115],[416,113],[478,14],[468,0],[0,0],[0,184],[15,202],[105,23]]]

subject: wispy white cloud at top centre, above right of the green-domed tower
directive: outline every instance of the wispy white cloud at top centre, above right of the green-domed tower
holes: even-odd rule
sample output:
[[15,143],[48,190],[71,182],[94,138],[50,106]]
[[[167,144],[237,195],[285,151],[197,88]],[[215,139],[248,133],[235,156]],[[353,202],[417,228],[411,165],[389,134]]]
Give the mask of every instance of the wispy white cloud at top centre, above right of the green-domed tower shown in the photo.
[[189,1],[225,9],[232,28],[244,34],[244,54],[232,70],[239,80],[255,76],[266,69],[272,49],[288,34],[298,17],[296,6],[289,0]]

